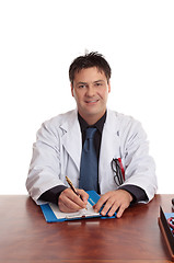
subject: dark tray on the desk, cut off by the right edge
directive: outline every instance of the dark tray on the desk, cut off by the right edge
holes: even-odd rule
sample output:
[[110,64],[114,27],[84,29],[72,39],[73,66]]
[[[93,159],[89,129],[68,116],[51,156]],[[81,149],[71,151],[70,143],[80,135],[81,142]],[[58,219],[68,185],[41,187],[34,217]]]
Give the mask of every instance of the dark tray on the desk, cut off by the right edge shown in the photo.
[[171,231],[171,228],[167,224],[167,218],[174,216],[174,213],[164,213],[162,207],[160,207],[160,217],[159,217],[159,226],[161,232],[163,235],[164,241],[171,254],[172,261],[174,261],[174,236]]

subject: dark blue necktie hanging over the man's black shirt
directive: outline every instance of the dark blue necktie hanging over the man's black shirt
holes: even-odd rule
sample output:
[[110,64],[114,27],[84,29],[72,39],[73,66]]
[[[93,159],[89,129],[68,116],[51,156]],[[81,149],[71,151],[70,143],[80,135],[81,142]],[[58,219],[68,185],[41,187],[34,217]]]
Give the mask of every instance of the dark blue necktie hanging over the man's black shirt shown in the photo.
[[97,157],[94,148],[95,132],[96,128],[86,129],[81,156],[79,188],[97,192]]

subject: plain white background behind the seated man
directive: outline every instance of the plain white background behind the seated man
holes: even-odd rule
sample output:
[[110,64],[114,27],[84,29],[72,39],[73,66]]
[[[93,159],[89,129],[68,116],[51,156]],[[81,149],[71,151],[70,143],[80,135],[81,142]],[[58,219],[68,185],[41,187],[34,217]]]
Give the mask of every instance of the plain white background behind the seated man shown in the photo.
[[174,192],[174,1],[0,1],[0,194],[26,194],[40,124],[76,106],[68,79],[79,55],[113,69],[108,107],[139,119],[158,193]]

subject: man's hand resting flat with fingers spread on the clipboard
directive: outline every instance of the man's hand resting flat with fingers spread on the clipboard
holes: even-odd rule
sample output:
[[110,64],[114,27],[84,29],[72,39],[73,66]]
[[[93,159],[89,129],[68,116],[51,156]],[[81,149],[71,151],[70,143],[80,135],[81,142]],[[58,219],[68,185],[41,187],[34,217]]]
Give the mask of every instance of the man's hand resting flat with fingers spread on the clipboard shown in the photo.
[[124,210],[130,205],[130,202],[132,201],[131,194],[129,194],[125,190],[116,190],[116,191],[111,191],[104,194],[96,205],[94,206],[95,211],[100,211],[101,207],[104,205],[101,214],[102,216],[105,216],[106,213],[108,211],[108,216],[113,216],[114,213],[118,209],[117,211],[117,217],[121,217]]

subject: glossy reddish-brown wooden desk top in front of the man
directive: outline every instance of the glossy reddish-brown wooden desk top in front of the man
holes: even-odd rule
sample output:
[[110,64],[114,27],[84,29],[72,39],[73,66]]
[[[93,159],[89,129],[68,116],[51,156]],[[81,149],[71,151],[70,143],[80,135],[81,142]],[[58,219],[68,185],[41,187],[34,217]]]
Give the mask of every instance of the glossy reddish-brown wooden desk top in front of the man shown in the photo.
[[173,195],[128,208],[120,219],[47,224],[27,196],[0,196],[1,263],[163,263],[159,206],[170,213]]

